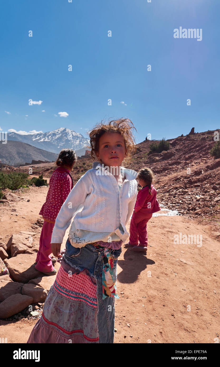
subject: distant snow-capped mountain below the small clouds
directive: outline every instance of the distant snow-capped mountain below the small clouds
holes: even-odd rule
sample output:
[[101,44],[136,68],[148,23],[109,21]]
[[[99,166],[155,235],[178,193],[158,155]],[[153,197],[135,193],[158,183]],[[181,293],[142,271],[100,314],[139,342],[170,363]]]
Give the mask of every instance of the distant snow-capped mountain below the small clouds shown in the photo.
[[[15,132],[8,132],[7,139],[21,141],[53,153],[59,153],[64,148],[74,149],[77,153],[77,150],[81,150],[82,148],[86,150],[88,149],[86,147],[90,146],[89,139],[65,127],[40,134],[21,135]],[[85,152],[79,156],[82,154],[85,154]]]

